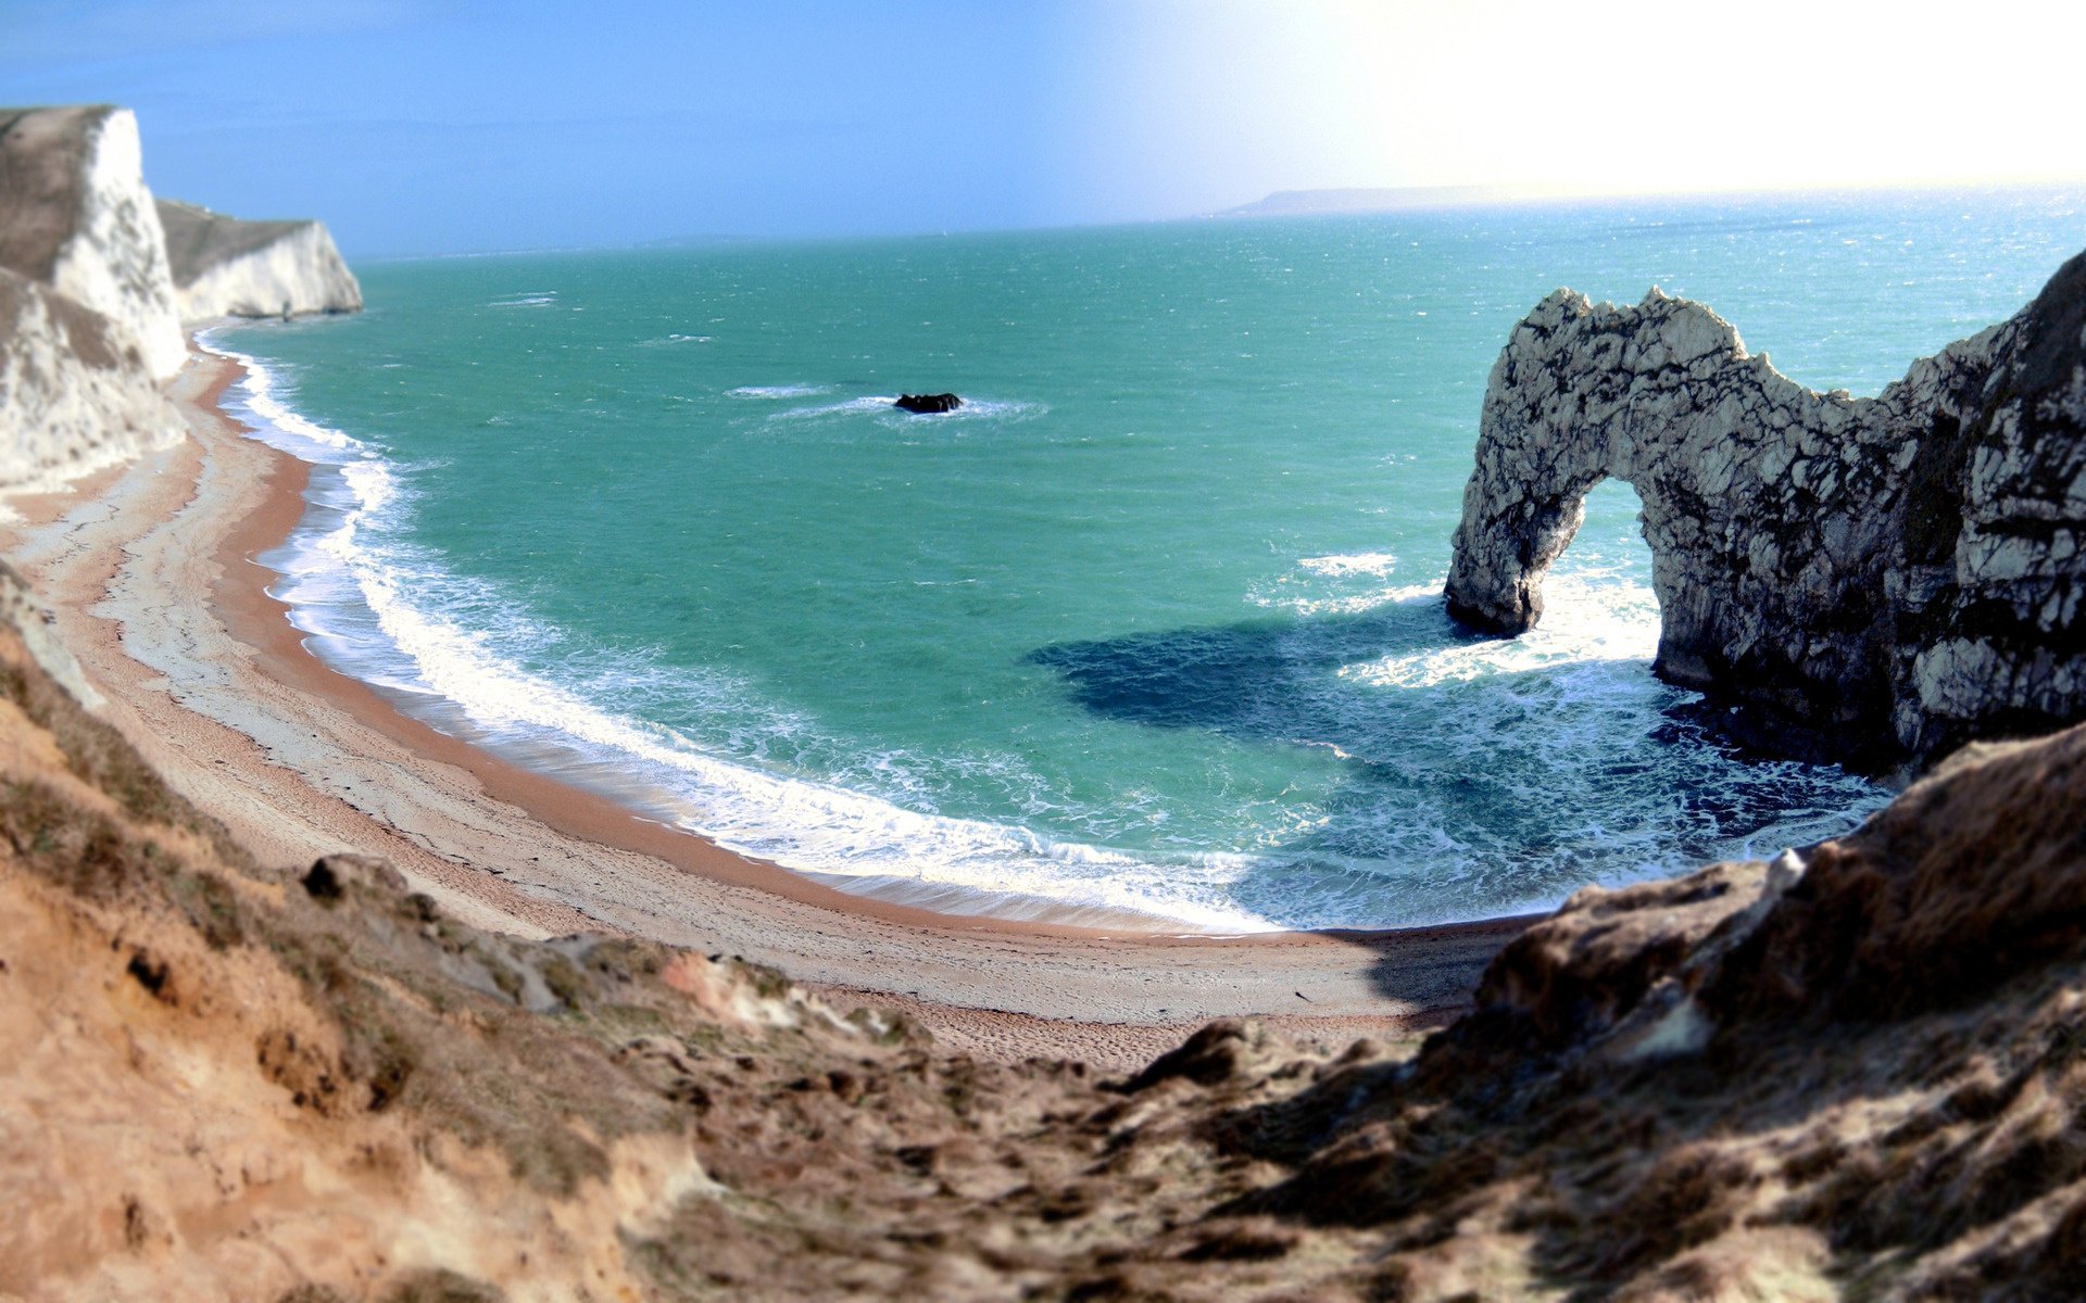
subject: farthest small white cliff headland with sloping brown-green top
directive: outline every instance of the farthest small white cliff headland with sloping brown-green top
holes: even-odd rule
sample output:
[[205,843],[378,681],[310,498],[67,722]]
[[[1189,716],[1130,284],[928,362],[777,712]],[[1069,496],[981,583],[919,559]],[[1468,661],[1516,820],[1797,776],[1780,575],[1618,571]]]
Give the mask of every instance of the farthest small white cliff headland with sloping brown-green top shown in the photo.
[[240,221],[159,200],[181,321],[359,313],[363,288],[317,221]]

